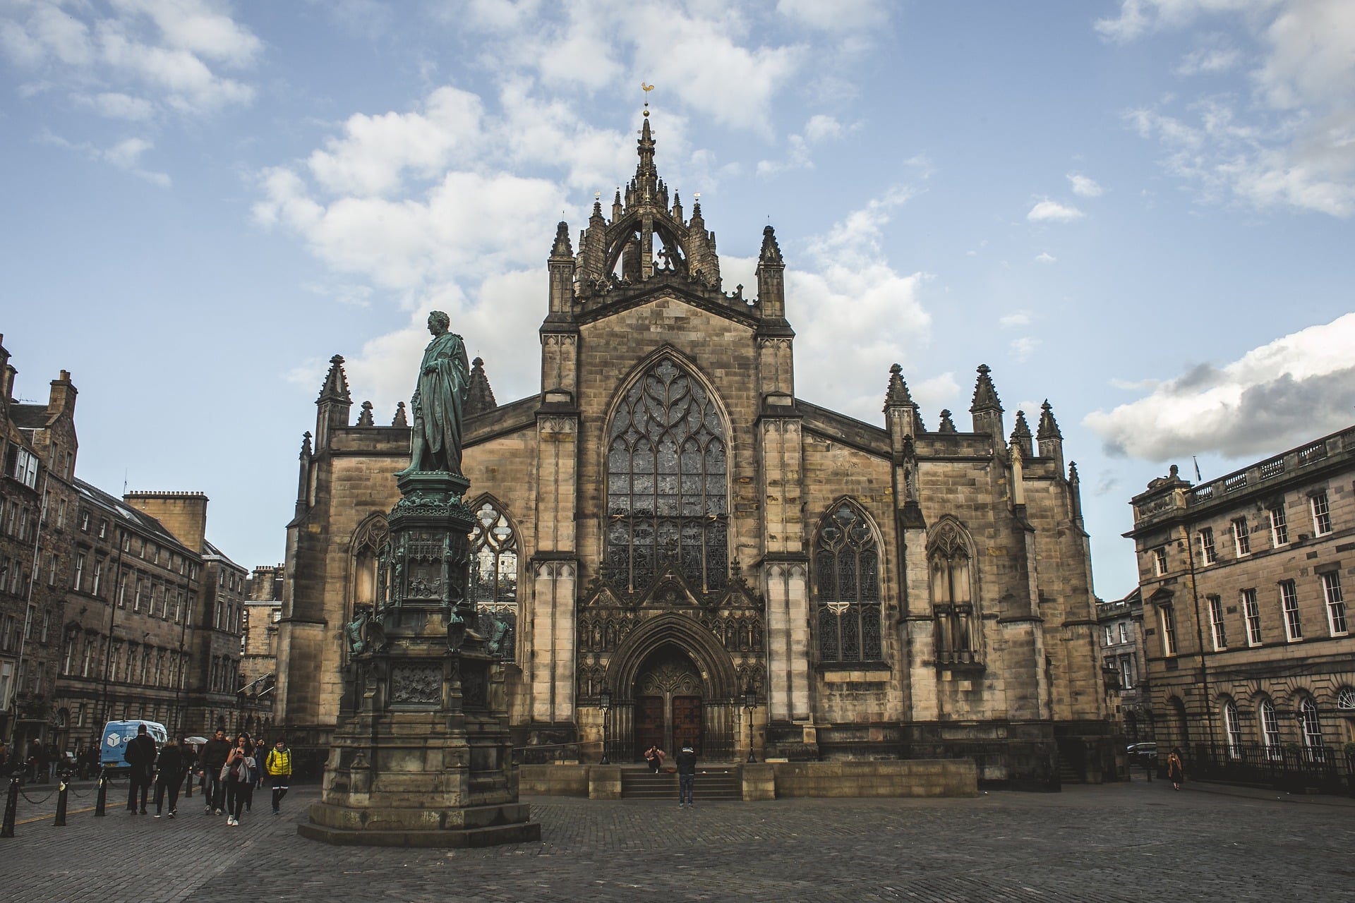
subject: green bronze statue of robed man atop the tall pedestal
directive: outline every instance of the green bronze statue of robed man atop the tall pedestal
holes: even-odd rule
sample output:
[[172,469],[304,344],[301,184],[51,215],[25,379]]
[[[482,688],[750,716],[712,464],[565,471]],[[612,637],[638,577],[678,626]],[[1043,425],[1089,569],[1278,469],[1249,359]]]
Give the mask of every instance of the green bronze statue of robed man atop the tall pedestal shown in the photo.
[[461,474],[461,412],[470,389],[470,367],[461,336],[447,332],[451,318],[440,310],[428,314],[432,341],[424,349],[419,384],[411,408],[415,414],[409,467],[396,474]]

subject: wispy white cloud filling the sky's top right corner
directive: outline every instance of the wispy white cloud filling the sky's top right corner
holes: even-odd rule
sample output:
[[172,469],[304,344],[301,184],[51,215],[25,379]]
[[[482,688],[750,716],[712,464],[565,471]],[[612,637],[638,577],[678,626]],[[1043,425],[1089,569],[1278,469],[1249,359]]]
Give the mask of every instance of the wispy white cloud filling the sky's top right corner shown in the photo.
[[[1179,72],[1249,66],[1252,96],[1163,100],[1127,118],[1157,139],[1165,169],[1206,200],[1355,214],[1355,3],[1350,0],[1125,0],[1098,23],[1117,41],[1211,16],[1210,35]],[[1238,39],[1247,46],[1234,46]]]

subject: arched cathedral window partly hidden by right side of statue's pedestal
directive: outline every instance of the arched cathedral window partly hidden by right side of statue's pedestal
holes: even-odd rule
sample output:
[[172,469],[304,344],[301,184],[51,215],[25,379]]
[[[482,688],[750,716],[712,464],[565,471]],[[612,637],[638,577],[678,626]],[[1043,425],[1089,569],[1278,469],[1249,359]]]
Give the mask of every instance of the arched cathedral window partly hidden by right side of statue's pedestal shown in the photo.
[[489,651],[512,659],[518,635],[518,533],[492,498],[476,508],[470,531],[470,598]]

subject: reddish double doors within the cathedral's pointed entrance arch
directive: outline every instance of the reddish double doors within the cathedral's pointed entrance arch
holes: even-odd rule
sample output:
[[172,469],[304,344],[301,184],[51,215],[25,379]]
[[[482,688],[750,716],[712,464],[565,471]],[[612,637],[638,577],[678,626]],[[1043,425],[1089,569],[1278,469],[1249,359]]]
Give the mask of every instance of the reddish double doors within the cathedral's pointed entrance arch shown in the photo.
[[702,684],[691,657],[676,646],[663,646],[645,659],[633,690],[637,758],[650,745],[669,755],[684,745],[702,754]]

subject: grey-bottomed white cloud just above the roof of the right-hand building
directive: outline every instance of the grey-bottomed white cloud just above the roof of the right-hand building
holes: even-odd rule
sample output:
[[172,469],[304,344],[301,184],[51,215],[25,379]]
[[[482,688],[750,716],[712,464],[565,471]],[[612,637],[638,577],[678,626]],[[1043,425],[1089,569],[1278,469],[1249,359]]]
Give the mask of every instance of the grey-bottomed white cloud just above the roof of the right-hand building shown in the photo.
[[1164,462],[1205,452],[1278,452],[1348,426],[1355,406],[1355,314],[1192,367],[1144,398],[1083,421],[1111,455]]

